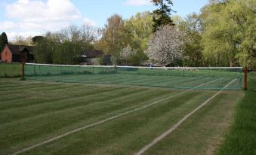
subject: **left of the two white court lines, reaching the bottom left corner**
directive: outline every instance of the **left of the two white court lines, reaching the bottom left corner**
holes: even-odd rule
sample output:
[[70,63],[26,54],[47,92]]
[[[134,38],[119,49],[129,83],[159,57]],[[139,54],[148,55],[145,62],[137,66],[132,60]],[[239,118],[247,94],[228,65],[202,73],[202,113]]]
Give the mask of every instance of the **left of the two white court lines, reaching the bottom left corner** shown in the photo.
[[83,130],[83,129],[87,129],[87,128],[91,127],[91,126],[97,126],[97,125],[102,124],[102,123],[105,123],[105,122],[107,122],[107,121],[109,121],[109,120],[114,120],[114,119],[116,119],[116,118],[118,118],[118,117],[122,117],[123,115],[131,114],[131,113],[133,113],[133,112],[135,112],[135,111],[140,111],[140,110],[142,110],[142,109],[144,109],[144,108],[148,108],[148,107],[150,107],[150,106],[152,106],[152,105],[156,105],[156,104],[159,103],[159,102],[163,102],[163,101],[165,101],[165,100],[167,100],[167,99],[174,98],[175,96],[180,96],[180,95],[182,95],[182,94],[184,94],[184,93],[187,93],[187,92],[190,92],[191,90],[196,89],[197,87],[201,87],[201,86],[203,86],[203,85],[205,85],[205,84],[209,84],[209,83],[214,82],[214,81],[217,81],[217,80],[218,80],[218,79],[215,79],[215,80],[213,80],[213,81],[208,81],[208,82],[206,82],[206,83],[204,83],[204,84],[200,84],[199,86],[193,87],[193,88],[190,89],[190,90],[186,90],[186,91],[184,91],[184,92],[177,93],[176,95],[174,95],[174,96],[169,96],[169,97],[167,97],[167,98],[165,98],[165,99],[160,99],[160,100],[158,100],[158,101],[156,101],[156,102],[150,103],[149,105],[144,105],[143,107],[136,108],[136,109],[131,110],[131,111],[126,111],[126,112],[124,112],[124,113],[122,113],[122,114],[118,114],[118,115],[116,115],[116,116],[106,118],[105,120],[100,120],[99,122],[91,123],[91,124],[89,124],[89,125],[87,125],[87,126],[82,126],[82,127],[80,127],[80,128],[73,129],[73,130],[71,130],[71,131],[69,131],[69,132],[63,133],[62,135],[58,135],[58,136],[56,136],[56,137],[54,137],[54,138],[48,139],[48,140],[46,140],[46,141],[42,141],[41,143],[34,144],[34,145],[30,146],[30,147],[23,148],[22,150],[19,150],[19,151],[13,153],[13,155],[20,154],[20,153],[24,153],[24,152],[26,152],[26,151],[28,151],[28,150],[32,150],[32,149],[35,148],[35,147],[42,146],[43,144],[48,144],[48,143],[50,143],[51,141],[56,141],[57,139],[66,137],[67,135],[70,135],[70,134],[75,133],[75,132],[79,132],[79,131],[81,131],[81,130]]

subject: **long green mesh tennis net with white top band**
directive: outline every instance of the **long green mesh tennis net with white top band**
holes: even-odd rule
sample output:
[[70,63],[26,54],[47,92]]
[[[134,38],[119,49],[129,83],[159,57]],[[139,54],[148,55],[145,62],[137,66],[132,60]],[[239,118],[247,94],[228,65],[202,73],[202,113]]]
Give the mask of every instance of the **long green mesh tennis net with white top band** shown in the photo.
[[242,89],[240,67],[134,67],[26,63],[26,79],[81,84],[124,84],[174,89]]

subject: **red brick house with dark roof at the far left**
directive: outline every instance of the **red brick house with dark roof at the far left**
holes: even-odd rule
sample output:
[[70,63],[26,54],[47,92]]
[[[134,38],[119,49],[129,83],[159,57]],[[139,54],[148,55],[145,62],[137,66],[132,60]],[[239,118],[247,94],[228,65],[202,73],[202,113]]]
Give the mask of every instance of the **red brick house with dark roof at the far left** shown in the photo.
[[1,52],[3,62],[32,62],[32,46],[6,44]]

